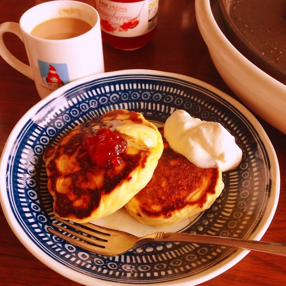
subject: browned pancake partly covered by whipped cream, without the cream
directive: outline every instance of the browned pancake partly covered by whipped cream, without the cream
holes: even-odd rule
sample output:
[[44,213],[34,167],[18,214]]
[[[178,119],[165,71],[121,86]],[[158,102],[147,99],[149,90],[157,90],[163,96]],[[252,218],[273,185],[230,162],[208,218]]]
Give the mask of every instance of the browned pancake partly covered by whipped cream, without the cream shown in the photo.
[[208,209],[224,188],[219,167],[200,168],[173,151],[164,150],[150,182],[126,205],[139,222],[168,226]]

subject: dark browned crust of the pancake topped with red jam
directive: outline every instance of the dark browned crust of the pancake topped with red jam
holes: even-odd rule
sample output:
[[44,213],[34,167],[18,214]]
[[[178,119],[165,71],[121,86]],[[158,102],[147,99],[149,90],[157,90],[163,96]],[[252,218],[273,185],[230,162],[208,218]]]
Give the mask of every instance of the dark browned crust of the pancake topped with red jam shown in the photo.
[[[130,181],[130,172],[136,167],[145,167],[145,163],[150,152],[148,150],[139,150],[137,154],[121,154],[123,160],[120,172],[116,170],[113,164],[107,167],[98,167],[89,156],[88,152],[83,149],[82,142],[86,135],[93,134],[95,131],[93,126],[105,126],[103,120],[114,120],[118,114],[126,114],[122,110],[110,111],[101,117],[92,119],[89,122],[81,124],[79,127],[67,133],[59,142],[57,147],[51,147],[46,150],[44,160],[50,159],[46,165],[48,173],[48,188],[54,196],[54,211],[60,217],[74,216],[78,219],[89,217],[100,205],[102,195],[108,194],[114,188]],[[142,123],[142,119],[138,117],[136,112],[129,112],[128,119],[135,123]],[[75,156],[75,161],[68,158]],[[66,157],[64,171],[58,170],[56,160]],[[96,176],[103,177],[103,184],[100,180],[95,179]],[[68,191],[66,193],[58,192],[56,186],[58,180],[66,180],[68,182]],[[74,202],[78,200],[80,206],[74,206]]]

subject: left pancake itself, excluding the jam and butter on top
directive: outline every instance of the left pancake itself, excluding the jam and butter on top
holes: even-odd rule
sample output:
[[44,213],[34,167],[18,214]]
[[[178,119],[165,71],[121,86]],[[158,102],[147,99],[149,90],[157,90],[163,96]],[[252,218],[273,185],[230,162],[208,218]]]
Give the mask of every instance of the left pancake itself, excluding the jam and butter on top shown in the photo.
[[[120,125],[120,124],[121,125]],[[156,146],[129,146],[121,154],[121,166],[99,167],[82,147],[85,136],[109,126],[144,125],[154,130]],[[124,206],[149,182],[163,150],[158,129],[133,111],[116,110],[94,118],[67,133],[58,146],[44,154],[48,189],[54,198],[55,215],[75,222],[88,222]]]

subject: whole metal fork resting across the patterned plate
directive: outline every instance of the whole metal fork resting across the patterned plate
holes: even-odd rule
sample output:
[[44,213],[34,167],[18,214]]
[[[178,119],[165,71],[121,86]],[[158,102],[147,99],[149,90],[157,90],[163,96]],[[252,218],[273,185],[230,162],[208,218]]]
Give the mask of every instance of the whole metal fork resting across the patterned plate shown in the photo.
[[[108,229],[102,226],[96,226],[92,223],[74,224],[58,217],[55,219],[64,223],[66,226],[91,235],[91,237],[85,236],[76,231],[72,231],[63,225],[58,225],[55,223],[52,223],[52,225],[57,229],[61,229],[63,232],[55,231],[54,229],[49,228],[51,233],[87,251],[106,256],[116,256],[122,254],[133,248],[135,245],[142,244],[147,241],[206,243],[210,245],[221,245],[232,248],[256,250],[286,256],[286,244],[284,243],[163,231],[143,237],[137,237],[124,231]],[[74,235],[83,241],[67,236],[64,234],[64,232]]]

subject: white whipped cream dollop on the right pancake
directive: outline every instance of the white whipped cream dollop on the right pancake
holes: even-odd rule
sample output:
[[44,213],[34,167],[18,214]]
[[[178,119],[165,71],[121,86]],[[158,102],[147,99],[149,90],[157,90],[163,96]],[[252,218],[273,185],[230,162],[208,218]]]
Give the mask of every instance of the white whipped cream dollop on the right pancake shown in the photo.
[[220,123],[193,118],[184,110],[176,110],[164,125],[164,137],[170,147],[198,167],[219,165],[222,172],[236,168],[242,150]]

